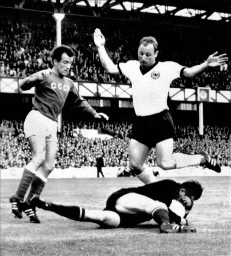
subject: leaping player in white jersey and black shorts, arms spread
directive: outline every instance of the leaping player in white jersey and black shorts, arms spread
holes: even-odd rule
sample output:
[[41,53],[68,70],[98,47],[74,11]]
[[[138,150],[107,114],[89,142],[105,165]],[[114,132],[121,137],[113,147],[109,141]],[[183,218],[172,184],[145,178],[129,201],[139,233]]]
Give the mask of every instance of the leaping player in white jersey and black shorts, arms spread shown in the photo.
[[173,153],[176,131],[167,105],[167,97],[173,79],[180,76],[193,77],[208,67],[223,65],[228,61],[227,55],[218,55],[218,52],[215,52],[205,62],[192,67],[181,66],[173,61],[161,62],[156,59],[156,38],[147,36],[140,40],[138,60],[114,64],[105,50],[105,37],[98,28],[94,32],[94,42],[106,71],[124,74],[132,83],[136,120],[129,143],[129,167],[138,178],[144,183],[155,181],[151,169],[145,165],[152,147],[156,147],[156,162],[162,169],[200,164],[221,172],[216,159],[205,151],[195,155]]

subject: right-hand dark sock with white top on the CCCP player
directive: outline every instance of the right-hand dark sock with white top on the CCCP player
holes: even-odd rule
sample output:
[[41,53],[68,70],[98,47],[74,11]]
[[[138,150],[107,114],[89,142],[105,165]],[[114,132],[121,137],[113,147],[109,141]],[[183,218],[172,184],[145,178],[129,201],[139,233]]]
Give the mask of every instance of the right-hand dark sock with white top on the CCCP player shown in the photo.
[[46,182],[47,178],[45,178],[41,173],[36,173],[31,182],[30,190],[25,201],[28,203],[34,194],[40,195]]

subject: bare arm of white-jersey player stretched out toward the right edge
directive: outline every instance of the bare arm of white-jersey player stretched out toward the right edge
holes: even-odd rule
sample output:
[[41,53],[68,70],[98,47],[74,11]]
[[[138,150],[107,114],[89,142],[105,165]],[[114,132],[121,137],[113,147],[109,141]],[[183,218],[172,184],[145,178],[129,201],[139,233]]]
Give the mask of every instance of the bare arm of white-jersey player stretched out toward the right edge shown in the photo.
[[220,66],[228,60],[229,58],[227,57],[226,53],[218,55],[218,51],[216,51],[214,54],[209,55],[208,59],[205,62],[192,67],[186,67],[183,71],[183,74],[186,77],[193,77],[205,71],[207,67]]

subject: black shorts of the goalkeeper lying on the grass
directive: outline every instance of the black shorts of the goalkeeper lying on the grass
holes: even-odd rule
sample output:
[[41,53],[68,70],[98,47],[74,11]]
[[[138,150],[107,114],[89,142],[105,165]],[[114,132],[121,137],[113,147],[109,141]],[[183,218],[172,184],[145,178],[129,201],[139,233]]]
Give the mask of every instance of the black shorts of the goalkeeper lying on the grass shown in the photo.
[[131,227],[135,226],[139,223],[145,222],[147,220],[150,220],[151,217],[147,216],[146,213],[142,214],[128,214],[128,213],[121,213],[119,212],[116,208],[116,201],[118,198],[121,196],[128,194],[128,193],[133,193],[135,190],[133,188],[122,188],[114,193],[112,193],[106,202],[106,207],[104,210],[111,210],[116,212],[120,216],[120,224],[119,227]]

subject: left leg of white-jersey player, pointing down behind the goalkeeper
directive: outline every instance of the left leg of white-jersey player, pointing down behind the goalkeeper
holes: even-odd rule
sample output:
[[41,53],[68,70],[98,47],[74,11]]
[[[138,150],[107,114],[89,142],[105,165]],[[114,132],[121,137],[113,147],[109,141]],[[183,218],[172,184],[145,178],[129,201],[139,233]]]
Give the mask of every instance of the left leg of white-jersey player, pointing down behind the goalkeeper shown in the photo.
[[129,143],[129,168],[145,184],[157,181],[151,168],[145,165],[145,160],[151,150],[148,146],[131,138]]

